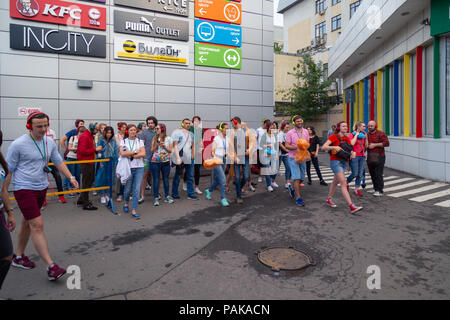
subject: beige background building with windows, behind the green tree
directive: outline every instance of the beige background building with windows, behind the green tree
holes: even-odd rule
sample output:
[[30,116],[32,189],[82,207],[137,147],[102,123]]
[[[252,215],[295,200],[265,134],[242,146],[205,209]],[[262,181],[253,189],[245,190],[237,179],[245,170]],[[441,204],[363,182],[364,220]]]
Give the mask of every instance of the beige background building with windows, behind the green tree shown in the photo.
[[[280,0],[277,10],[283,14],[284,54],[275,55],[276,103],[287,102],[280,92],[295,80],[287,72],[292,72],[303,54],[311,54],[327,70],[329,50],[361,3],[362,0]],[[338,93],[340,85],[333,83],[331,94]],[[343,106],[337,105],[310,125],[326,138],[323,133],[342,119],[342,112]]]

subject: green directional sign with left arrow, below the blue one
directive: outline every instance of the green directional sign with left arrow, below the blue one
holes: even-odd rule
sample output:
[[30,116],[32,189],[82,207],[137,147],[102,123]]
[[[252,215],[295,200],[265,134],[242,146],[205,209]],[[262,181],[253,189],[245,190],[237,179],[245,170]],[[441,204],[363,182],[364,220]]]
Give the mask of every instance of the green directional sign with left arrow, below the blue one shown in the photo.
[[241,49],[196,43],[195,65],[205,67],[241,69]]

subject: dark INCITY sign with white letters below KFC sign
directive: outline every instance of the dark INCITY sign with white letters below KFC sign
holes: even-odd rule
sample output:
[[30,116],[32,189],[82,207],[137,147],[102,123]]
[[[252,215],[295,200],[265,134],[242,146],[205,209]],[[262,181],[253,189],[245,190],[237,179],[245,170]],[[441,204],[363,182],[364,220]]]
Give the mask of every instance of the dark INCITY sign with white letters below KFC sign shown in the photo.
[[10,24],[10,47],[17,50],[106,58],[106,36]]

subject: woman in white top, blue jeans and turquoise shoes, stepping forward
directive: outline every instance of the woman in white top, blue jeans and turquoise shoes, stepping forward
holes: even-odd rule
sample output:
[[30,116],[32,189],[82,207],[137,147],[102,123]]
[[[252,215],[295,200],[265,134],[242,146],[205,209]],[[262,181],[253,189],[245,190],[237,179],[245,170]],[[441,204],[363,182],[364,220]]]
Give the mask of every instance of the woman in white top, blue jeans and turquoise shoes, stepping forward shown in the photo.
[[225,156],[227,153],[227,131],[228,124],[221,122],[218,126],[219,134],[214,138],[212,143],[211,155],[215,158],[223,160],[223,164],[213,168],[213,182],[211,186],[205,190],[205,195],[208,200],[211,200],[211,193],[219,186],[220,188],[220,204],[224,207],[228,207],[229,203],[225,198]]

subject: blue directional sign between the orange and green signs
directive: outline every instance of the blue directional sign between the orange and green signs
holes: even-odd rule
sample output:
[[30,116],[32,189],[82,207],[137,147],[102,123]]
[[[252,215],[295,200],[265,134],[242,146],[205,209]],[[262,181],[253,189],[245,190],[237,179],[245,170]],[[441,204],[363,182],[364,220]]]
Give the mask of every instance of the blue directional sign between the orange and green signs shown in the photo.
[[232,24],[196,19],[195,41],[240,47],[242,28]]

